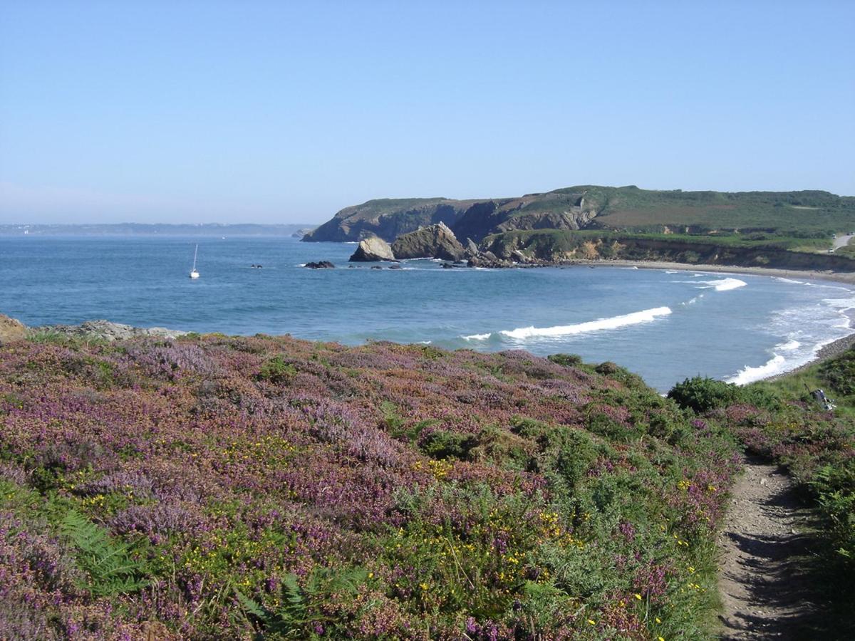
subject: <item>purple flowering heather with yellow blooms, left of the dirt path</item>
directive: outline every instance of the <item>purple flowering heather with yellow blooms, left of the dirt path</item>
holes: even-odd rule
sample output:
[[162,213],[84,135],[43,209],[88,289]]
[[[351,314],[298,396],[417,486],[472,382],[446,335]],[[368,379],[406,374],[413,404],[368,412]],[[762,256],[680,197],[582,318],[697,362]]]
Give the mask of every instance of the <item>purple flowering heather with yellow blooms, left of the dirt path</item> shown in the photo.
[[732,439],[565,363],[0,348],[0,638],[709,638]]

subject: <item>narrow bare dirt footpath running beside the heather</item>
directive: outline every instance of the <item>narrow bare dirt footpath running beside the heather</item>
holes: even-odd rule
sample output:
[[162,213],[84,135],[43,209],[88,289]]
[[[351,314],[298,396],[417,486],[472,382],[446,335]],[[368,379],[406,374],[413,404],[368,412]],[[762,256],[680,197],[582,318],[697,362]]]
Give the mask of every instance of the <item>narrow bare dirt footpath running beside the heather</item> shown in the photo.
[[736,483],[720,535],[722,639],[801,639],[817,615],[804,568],[809,513],[793,481],[756,460]]

